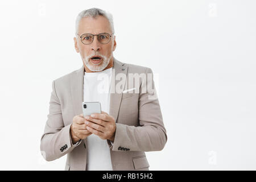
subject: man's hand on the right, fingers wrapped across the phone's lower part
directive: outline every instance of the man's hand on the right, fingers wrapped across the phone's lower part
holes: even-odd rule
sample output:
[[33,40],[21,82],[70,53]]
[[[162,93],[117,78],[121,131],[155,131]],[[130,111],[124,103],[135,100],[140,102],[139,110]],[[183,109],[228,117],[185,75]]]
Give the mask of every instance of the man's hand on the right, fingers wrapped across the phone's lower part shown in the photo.
[[91,133],[98,135],[101,139],[109,139],[114,142],[115,138],[115,119],[112,115],[101,111],[85,116],[86,129]]

